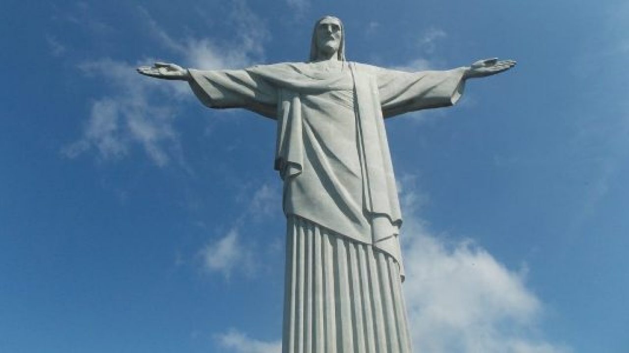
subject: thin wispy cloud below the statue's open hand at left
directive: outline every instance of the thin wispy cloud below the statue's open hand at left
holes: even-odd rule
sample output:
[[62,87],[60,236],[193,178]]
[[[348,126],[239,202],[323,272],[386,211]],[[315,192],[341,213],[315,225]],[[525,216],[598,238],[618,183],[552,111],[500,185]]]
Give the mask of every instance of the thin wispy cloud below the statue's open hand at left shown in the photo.
[[179,139],[172,126],[173,109],[156,97],[182,99],[181,89],[176,84],[158,85],[128,63],[111,59],[84,63],[81,70],[104,79],[112,92],[92,102],[82,137],[62,153],[74,158],[94,148],[104,160],[116,160],[138,145],[156,165],[166,165],[179,151]]

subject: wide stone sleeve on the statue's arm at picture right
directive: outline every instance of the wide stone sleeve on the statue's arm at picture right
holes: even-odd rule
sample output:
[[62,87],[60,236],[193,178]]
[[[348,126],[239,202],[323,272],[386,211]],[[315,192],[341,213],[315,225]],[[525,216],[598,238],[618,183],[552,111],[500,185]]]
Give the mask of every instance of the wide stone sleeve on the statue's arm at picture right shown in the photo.
[[377,68],[375,75],[384,117],[452,106],[465,85],[463,68],[423,72]]

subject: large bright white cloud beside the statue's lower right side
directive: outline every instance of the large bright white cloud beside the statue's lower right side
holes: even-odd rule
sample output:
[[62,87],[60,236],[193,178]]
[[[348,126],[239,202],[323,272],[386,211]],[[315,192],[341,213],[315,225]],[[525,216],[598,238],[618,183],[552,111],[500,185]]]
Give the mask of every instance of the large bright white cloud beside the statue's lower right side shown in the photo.
[[[411,182],[409,182],[411,180]],[[404,291],[418,352],[559,353],[539,335],[543,305],[526,288],[526,268],[513,271],[472,241],[445,240],[417,217],[425,200],[412,178],[401,183]]]

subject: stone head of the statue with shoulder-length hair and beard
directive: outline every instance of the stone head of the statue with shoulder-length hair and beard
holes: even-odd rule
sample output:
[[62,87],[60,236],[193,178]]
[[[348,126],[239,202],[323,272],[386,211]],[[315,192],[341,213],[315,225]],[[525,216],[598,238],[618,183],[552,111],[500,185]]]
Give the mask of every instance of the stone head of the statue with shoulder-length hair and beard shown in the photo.
[[345,61],[345,31],[337,17],[323,16],[315,23],[309,61],[317,60],[321,53],[337,53],[338,60]]

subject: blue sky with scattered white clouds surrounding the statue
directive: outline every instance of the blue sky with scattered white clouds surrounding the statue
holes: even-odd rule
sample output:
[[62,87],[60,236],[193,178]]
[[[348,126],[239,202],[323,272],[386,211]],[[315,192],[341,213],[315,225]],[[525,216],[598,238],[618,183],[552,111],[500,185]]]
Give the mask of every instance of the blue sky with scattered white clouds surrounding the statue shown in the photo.
[[0,352],[278,352],[274,123],[155,60],[487,57],[455,107],[387,122],[416,350],[629,352],[629,6],[574,1],[9,1],[0,15]]

